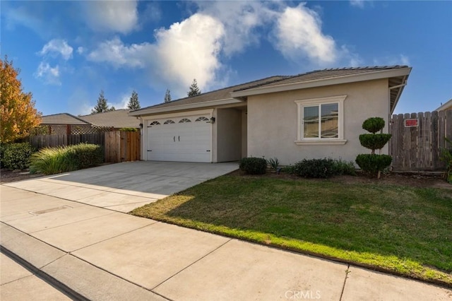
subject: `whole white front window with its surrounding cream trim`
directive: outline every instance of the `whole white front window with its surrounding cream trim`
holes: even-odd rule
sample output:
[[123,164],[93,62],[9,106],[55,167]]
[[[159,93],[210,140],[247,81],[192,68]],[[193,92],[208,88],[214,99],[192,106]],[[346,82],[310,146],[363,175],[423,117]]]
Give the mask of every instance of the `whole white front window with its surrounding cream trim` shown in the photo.
[[296,100],[298,134],[295,143],[344,144],[344,100],[347,95]]

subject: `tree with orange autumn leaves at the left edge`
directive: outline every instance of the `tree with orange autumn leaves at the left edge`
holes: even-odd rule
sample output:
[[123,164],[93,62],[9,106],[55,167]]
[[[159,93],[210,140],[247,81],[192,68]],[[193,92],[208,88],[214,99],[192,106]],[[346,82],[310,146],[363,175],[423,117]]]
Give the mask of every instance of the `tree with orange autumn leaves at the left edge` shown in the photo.
[[13,61],[0,59],[0,142],[8,143],[28,136],[41,122],[41,113],[35,109],[32,93],[23,92],[18,79],[19,69],[14,69]]

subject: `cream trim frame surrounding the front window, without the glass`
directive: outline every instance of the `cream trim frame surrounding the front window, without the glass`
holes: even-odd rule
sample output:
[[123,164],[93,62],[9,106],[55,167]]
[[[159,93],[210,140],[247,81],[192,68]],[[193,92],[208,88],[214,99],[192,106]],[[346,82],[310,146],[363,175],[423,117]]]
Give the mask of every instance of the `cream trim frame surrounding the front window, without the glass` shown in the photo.
[[[295,100],[297,104],[297,140],[295,144],[297,145],[344,145],[347,140],[344,139],[344,101],[347,95],[331,96],[328,98],[309,98],[306,100]],[[303,107],[307,105],[323,105],[328,103],[338,103],[338,138],[303,138]]]

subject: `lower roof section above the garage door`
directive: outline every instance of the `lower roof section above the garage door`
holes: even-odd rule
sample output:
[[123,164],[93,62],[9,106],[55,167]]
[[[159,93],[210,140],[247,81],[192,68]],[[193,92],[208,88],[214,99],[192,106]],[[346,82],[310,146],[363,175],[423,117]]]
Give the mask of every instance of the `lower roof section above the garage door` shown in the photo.
[[251,81],[249,83],[242,83],[240,85],[232,85],[231,87],[222,88],[220,90],[210,91],[202,93],[200,95],[192,96],[191,98],[181,98],[179,100],[173,100],[171,102],[165,102],[159,105],[153,105],[150,107],[144,107],[141,110],[135,110],[130,112],[131,116],[139,116],[142,114],[149,114],[153,112],[167,112],[172,108],[177,110],[184,110],[185,107],[206,107],[207,105],[222,105],[225,103],[242,102],[241,100],[234,100],[231,97],[231,93],[234,90],[251,87],[258,84],[270,83],[275,80],[287,78],[287,76],[270,76],[258,81]]

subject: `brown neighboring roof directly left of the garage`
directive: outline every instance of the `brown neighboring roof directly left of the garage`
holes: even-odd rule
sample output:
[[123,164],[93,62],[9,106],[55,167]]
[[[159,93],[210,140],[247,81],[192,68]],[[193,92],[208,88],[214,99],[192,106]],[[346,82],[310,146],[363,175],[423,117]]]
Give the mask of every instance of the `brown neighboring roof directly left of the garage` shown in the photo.
[[109,112],[84,115],[80,118],[97,126],[109,126],[117,129],[125,127],[139,128],[140,120],[136,119],[136,117],[129,116],[129,111],[130,110],[119,109]]

